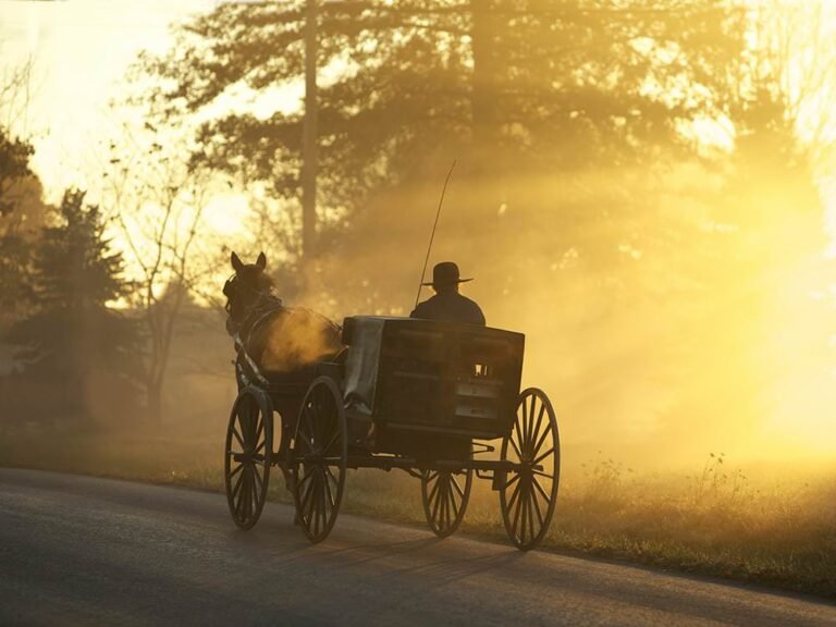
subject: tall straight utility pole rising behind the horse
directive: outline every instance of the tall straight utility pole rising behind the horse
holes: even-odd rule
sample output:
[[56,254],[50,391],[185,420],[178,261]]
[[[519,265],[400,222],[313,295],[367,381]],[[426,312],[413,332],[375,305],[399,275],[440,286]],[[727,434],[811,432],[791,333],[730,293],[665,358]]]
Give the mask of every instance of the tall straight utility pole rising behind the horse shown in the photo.
[[305,11],[305,119],[302,131],[302,257],[317,254],[317,11],[318,0],[307,0]]

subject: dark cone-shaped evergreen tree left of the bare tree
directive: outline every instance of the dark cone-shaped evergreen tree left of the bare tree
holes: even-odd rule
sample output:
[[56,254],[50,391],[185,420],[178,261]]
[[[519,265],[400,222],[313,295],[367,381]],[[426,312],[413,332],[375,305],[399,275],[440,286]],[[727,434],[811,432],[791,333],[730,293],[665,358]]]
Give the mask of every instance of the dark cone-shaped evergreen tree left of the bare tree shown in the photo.
[[11,337],[32,374],[63,386],[64,409],[83,414],[85,385],[94,370],[127,379],[140,373],[135,323],[108,307],[124,296],[121,253],[110,248],[97,207],[69,189],[60,222],[42,230],[33,260],[33,315]]

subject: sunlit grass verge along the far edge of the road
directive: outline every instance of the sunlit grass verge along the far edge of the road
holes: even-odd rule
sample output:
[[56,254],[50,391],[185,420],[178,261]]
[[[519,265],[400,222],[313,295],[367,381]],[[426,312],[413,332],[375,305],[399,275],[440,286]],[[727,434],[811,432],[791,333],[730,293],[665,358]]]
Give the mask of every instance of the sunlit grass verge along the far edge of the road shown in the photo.
[[[223,490],[221,438],[185,428],[4,432],[0,465]],[[270,499],[290,502],[281,475],[271,478]],[[425,522],[418,481],[397,471],[349,472],[343,511]],[[505,538],[489,482],[475,481],[460,532]],[[543,545],[836,599],[836,476],[755,487],[722,455],[691,476],[636,476],[600,458],[565,474]]]

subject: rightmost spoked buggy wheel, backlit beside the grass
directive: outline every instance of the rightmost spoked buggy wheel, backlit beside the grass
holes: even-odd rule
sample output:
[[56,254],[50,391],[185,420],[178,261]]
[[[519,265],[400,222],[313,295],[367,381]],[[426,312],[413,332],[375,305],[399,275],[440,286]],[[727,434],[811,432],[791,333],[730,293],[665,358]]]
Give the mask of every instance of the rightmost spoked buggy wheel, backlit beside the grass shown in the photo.
[[505,530],[519,549],[533,549],[554,516],[561,474],[557,420],[542,390],[520,394],[516,420],[502,441],[502,459],[518,466],[500,491]]

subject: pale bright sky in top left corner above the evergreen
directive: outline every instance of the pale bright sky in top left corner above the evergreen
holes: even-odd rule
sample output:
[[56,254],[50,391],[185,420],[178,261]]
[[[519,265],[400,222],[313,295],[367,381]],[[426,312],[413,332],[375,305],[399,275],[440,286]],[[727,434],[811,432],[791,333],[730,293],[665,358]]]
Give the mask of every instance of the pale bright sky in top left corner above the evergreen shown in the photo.
[[0,0],[1,64],[35,61],[32,104],[17,131],[33,137],[34,165],[51,200],[100,172],[96,147],[111,131],[108,101],[136,53],[167,46],[172,21],[217,3]]

